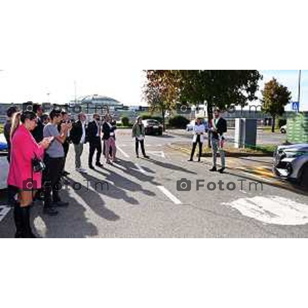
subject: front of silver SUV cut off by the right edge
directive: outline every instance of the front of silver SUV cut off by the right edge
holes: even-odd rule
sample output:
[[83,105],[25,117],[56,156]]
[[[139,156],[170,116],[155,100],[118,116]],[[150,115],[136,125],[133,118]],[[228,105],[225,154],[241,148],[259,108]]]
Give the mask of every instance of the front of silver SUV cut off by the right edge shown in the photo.
[[308,144],[280,145],[274,153],[274,173],[308,188]]

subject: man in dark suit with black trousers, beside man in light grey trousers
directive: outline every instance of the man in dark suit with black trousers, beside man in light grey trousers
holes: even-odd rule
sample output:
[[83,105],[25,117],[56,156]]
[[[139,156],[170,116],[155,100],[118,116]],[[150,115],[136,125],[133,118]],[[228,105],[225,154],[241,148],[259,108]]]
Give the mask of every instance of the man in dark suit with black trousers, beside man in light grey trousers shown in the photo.
[[100,115],[98,113],[93,114],[93,121],[89,123],[87,129],[87,136],[88,141],[90,144],[89,149],[89,168],[94,169],[93,167],[93,156],[95,150],[97,151],[96,163],[95,166],[103,167],[101,164],[101,155],[102,155],[102,142],[101,142],[101,122],[100,122]]

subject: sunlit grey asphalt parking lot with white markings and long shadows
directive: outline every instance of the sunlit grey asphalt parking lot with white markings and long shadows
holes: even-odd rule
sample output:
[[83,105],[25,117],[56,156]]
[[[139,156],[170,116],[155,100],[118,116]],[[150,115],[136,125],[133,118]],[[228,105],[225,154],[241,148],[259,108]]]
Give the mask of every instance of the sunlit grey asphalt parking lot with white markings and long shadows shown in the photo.
[[[62,199],[70,205],[61,208],[58,216],[49,217],[43,215],[42,204],[35,202],[32,216],[37,235],[48,238],[308,236],[306,195],[273,185],[269,177],[268,183],[259,178],[262,185],[258,184],[258,174],[236,169],[239,164],[235,159],[227,160],[229,168],[224,175],[213,174],[208,171],[210,158],[202,159],[201,163],[187,162],[187,154],[169,146],[183,140],[187,137],[170,133],[163,137],[147,136],[150,159],[137,159],[130,131],[118,130],[119,163],[106,165],[102,159],[104,167],[88,170],[87,174],[74,170],[71,146],[66,167],[71,172],[66,179],[70,190],[61,191]],[[82,157],[84,167],[87,155],[88,145]],[[261,166],[268,166],[268,162],[261,161]],[[259,177],[266,179],[264,171]],[[183,179],[190,182],[189,191],[178,190]],[[76,182],[82,184],[81,190],[73,189]],[[103,189],[100,183],[105,183]],[[0,237],[13,235],[12,210],[2,205]]]

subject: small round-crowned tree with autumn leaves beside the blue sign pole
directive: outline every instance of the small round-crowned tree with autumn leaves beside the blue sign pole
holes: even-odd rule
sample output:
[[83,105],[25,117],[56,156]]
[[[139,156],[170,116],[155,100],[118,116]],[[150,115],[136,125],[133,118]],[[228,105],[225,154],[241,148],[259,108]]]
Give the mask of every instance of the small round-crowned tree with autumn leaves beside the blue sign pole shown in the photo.
[[262,110],[272,115],[272,132],[275,132],[276,118],[283,114],[284,107],[291,102],[291,92],[273,78],[264,85],[262,95]]

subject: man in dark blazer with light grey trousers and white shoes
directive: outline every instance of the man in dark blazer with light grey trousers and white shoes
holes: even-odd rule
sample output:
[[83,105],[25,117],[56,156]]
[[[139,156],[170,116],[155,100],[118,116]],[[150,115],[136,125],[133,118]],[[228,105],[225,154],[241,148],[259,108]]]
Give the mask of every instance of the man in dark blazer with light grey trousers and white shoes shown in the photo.
[[78,172],[86,172],[86,169],[81,167],[81,155],[86,141],[86,115],[81,112],[78,114],[78,121],[73,123],[70,131],[70,139],[74,144],[75,149],[75,167]]

